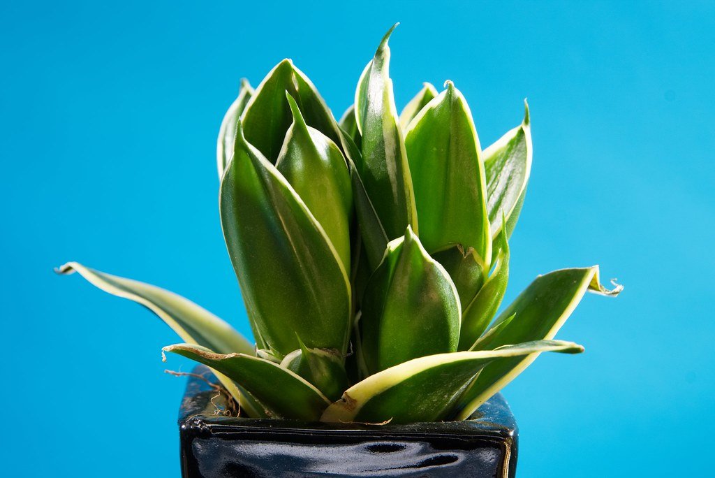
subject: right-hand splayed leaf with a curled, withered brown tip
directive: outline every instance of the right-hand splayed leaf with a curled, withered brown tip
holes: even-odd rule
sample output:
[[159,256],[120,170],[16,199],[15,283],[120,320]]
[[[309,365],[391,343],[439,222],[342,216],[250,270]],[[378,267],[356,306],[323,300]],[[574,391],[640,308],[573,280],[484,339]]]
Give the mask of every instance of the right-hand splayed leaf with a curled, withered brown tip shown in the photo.
[[[540,275],[510,306],[496,318],[495,326],[510,321],[486,340],[475,344],[479,350],[491,350],[509,343],[548,340],[571,315],[590,290],[606,296],[616,296],[623,288],[608,291],[598,281],[598,266],[561,269]],[[511,318],[511,316],[514,316]],[[526,369],[538,354],[508,358],[487,366],[460,400],[460,419],[470,416],[481,404],[503,389]]]

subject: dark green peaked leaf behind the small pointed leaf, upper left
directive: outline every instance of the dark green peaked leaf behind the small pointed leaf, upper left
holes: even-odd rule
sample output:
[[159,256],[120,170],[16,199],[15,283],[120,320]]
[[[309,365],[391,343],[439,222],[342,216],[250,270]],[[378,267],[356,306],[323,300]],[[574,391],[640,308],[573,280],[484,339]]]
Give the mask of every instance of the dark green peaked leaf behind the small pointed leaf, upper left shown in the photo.
[[341,145],[340,129],[325,100],[315,86],[290,59],[276,65],[261,84],[242,114],[246,140],[275,163],[283,145],[285,133],[292,123],[290,107],[285,101],[288,92],[300,107],[307,125],[314,127]]

